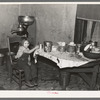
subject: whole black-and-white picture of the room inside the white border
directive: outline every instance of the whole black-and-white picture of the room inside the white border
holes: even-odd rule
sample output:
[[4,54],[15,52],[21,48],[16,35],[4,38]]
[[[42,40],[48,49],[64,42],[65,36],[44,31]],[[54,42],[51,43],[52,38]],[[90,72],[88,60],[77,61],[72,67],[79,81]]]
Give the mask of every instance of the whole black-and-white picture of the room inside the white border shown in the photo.
[[99,91],[100,4],[0,3],[0,90]]

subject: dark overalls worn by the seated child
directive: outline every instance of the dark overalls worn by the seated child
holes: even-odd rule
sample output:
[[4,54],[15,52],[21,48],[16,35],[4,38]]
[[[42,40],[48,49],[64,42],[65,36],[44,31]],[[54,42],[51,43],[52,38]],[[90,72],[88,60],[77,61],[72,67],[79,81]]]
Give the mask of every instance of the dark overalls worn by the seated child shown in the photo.
[[33,63],[28,65],[28,57],[28,53],[23,53],[17,62],[18,68],[24,70],[26,81],[37,78],[37,66]]

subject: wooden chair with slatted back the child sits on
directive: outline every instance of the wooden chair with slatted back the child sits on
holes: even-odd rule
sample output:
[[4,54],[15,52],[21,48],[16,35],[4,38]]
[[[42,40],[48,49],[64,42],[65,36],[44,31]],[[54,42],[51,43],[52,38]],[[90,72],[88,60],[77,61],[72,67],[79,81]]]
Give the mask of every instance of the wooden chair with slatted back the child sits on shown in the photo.
[[19,44],[21,41],[21,36],[8,36],[8,49],[9,49],[9,59],[10,59],[10,82],[14,80],[18,85],[19,89],[21,90],[22,83],[25,81],[25,74],[24,70],[18,69],[17,66],[17,60],[14,58],[14,55],[16,55]]

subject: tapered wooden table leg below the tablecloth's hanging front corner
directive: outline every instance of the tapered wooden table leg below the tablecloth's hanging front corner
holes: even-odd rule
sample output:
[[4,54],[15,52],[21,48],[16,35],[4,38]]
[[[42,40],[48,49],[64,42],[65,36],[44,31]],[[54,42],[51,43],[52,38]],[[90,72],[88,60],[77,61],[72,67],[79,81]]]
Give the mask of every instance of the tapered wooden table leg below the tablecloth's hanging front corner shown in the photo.
[[70,73],[66,71],[60,71],[60,85],[62,90],[66,90],[66,87],[69,85]]

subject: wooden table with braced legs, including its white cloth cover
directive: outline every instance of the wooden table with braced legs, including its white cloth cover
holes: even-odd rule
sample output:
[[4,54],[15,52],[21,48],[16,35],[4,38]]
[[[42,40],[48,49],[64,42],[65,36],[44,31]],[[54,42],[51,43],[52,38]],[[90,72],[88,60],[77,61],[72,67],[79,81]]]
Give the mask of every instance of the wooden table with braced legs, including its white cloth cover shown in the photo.
[[[60,69],[59,83],[63,90],[65,90],[69,84],[71,73],[78,73],[89,85],[91,90],[95,88],[97,75],[99,73],[100,60],[87,59],[76,54],[69,54],[68,52],[60,53],[52,51],[47,53],[43,50],[36,50],[34,52],[36,62],[38,61],[36,55],[51,60],[57,64]],[[92,73],[91,79],[87,73]]]

